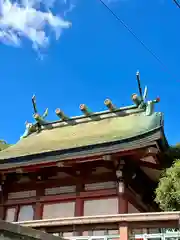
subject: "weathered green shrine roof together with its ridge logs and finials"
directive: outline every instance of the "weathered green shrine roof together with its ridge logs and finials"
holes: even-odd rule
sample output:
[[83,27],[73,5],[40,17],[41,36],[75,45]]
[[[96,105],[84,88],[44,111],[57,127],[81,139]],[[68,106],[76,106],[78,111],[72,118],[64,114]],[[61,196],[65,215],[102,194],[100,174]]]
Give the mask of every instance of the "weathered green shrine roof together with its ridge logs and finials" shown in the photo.
[[[26,123],[26,131],[21,140],[0,153],[0,159],[18,158],[59,150],[87,147],[114,141],[127,141],[131,138],[141,138],[156,129],[163,129],[162,113],[154,112],[154,104],[159,98],[146,101],[147,87],[144,94],[132,95],[135,105],[117,108],[108,99],[105,105],[107,111],[94,113],[87,111],[79,117],[64,117],[61,110],[56,114],[61,120],[45,121],[47,110],[40,116],[37,113],[35,97],[33,108],[35,123]],[[81,105],[81,110],[86,109]],[[163,130],[162,130],[163,131]]]

